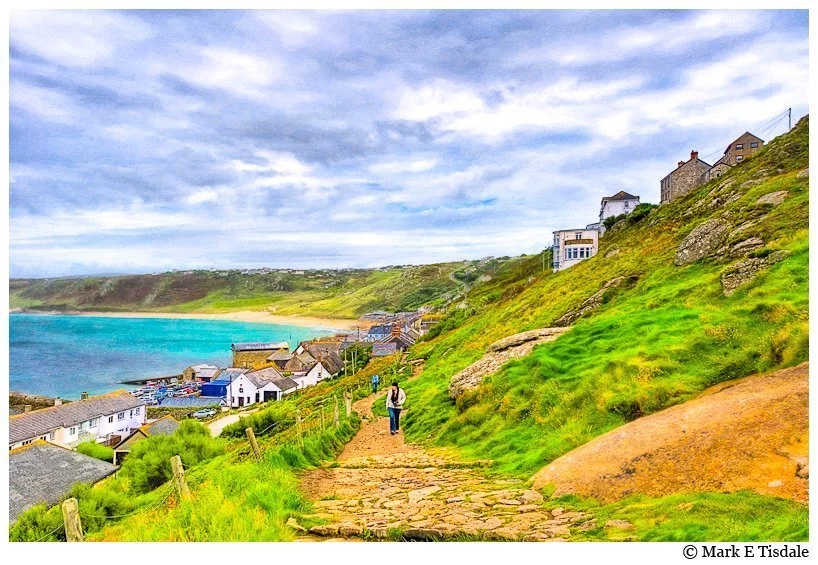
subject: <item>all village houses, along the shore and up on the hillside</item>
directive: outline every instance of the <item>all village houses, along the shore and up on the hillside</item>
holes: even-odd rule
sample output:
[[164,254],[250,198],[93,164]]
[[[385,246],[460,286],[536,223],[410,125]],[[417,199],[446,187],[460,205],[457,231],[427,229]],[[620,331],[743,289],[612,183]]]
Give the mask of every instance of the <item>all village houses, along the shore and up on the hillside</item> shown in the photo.
[[[746,132],[732,141],[711,165],[694,150],[690,159],[660,181],[661,204],[690,191],[741,164],[764,144]],[[599,238],[640,206],[640,196],[619,191],[602,198],[598,221],[584,228],[553,232],[553,270],[558,272],[594,257]],[[149,410],[175,410],[204,421],[224,412],[247,410],[267,402],[285,401],[309,387],[355,371],[356,356],[399,355],[429,332],[440,316],[415,312],[372,312],[362,316],[363,332],[340,333],[302,341],[232,343],[229,367],[199,363],[179,375],[147,380],[135,390],[118,390],[77,401],[57,398],[42,409],[26,406],[9,420],[10,521],[40,503],[54,505],[77,482],[95,484],[114,475],[139,441],[174,433],[174,415],[150,417]],[[112,462],[78,452],[95,442],[114,451]]]

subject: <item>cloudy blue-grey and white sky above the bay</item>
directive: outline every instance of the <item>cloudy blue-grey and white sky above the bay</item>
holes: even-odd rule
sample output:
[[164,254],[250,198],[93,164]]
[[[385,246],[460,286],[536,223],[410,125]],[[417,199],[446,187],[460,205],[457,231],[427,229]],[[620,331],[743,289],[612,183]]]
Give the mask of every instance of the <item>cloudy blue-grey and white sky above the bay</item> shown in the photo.
[[10,42],[13,277],[536,253],[808,110],[806,11],[12,12]]

